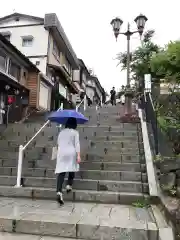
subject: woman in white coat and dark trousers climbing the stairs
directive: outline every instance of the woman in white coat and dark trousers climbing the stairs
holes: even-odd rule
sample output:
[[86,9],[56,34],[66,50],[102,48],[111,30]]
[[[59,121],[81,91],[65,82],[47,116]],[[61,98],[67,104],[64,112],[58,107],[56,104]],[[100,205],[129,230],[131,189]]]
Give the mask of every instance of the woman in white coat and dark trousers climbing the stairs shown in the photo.
[[75,118],[69,118],[58,136],[58,153],[55,173],[57,177],[57,200],[60,204],[64,204],[62,195],[62,186],[66,173],[69,173],[66,190],[72,190],[72,184],[75,172],[79,171],[80,142],[77,130],[77,121]]

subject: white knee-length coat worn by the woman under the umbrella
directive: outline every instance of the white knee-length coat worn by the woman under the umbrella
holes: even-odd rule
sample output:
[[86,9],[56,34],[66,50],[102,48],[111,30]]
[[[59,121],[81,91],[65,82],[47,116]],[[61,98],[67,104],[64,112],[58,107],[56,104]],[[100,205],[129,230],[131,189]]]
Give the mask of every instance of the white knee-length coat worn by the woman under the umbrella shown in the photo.
[[55,173],[78,172],[77,153],[80,152],[79,133],[65,128],[58,136],[58,153]]

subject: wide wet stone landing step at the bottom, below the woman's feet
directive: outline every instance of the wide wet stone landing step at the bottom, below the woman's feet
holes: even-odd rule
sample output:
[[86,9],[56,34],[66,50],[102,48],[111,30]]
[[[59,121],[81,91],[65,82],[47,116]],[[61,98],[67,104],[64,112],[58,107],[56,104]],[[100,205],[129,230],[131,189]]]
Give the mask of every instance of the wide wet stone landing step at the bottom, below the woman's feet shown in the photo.
[[[158,227],[151,208],[1,198],[1,231],[89,240],[154,240]],[[122,217],[121,217],[122,216]]]

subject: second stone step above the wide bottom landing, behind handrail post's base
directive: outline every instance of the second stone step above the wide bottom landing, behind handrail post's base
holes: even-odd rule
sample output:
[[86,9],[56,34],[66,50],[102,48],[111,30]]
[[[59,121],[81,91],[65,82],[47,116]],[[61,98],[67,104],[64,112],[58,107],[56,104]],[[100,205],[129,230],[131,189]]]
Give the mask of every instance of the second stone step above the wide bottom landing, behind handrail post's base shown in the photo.
[[[15,186],[15,176],[0,176],[0,183],[4,186]],[[56,178],[45,177],[23,177],[25,187],[55,188]],[[111,192],[139,192],[148,193],[148,184],[141,181],[110,181],[75,179],[73,184],[77,190],[111,191]]]

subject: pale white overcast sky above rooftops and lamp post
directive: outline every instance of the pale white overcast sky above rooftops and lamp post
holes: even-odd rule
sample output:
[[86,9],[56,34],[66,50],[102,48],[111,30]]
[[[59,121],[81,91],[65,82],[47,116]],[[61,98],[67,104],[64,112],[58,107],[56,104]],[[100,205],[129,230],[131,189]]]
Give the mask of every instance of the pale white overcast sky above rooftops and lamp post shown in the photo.
[[[24,1],[6,0],[0,8],[0,16],[20,12],[44,17],[45,13],[56,13],[74,51],[85,64],[94,69],[103,87],[120,88],[126,83],[126,73],[117,67],[116,54],[126,50],[126,38],[120,36],[115,41],[110,21],[118,16],[136,29],[134,18],[140,13],[148,17],[147,29],[155,29],[154,40],[163,46],[170,40],[180,38],[180,1],[171,0],[52,0]],[[42,39],[43,41],[43,39]],[[131,49],[139,44],[139,36],[134,35]]]

